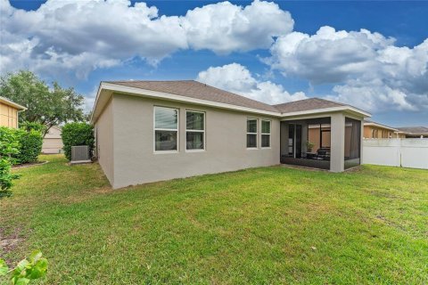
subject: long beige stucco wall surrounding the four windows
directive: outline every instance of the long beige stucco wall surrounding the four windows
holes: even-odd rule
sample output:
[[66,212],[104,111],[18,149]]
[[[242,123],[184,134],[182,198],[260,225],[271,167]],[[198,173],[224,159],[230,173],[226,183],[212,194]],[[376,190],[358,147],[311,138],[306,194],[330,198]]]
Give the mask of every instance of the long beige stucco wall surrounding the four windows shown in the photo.
[[[179,109],[177,153],[153,151],[154,106]],[[109,178],[114,188],[279,164],[280,124],[277,118],[122,94],[113,94],[109,108],[111,107],[112,110],[104,111],[96,126],[99,127],[99,134],[104,133],[99,139],[100,164],[107,176],[114,175],[113,179]],[[206,112],[205,151],[185,151],[185,110]],[[258,150],[246,149],[247,117],[259,118]],[[110,120],[112,118],[113,123],[109,123],[107,118]],[[272,120],[269,149],[260,148],[261,118]],[[113,130],[114,133],[107,135],[109,130]],[[111,136],[114,142],[106,142]],[[112,146],[114,159],[107,161],[105,157],[111,154]],[[114,172],[111,164],[114,164]]]

